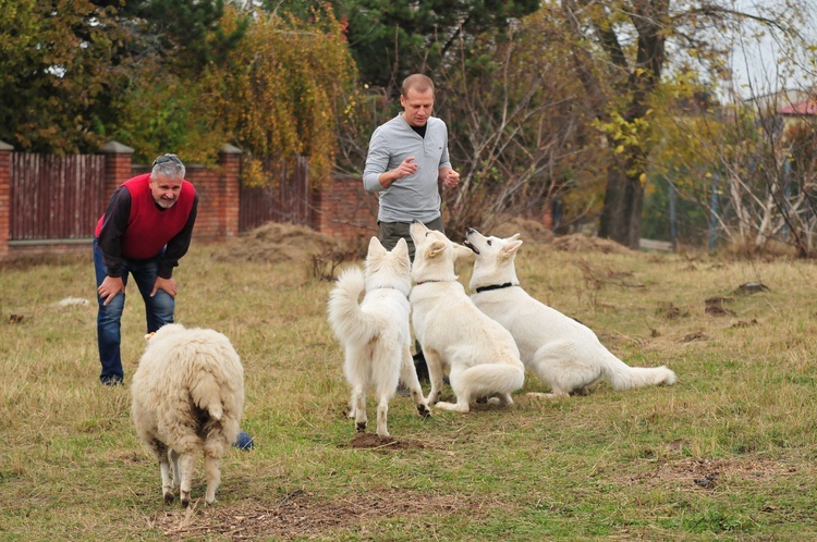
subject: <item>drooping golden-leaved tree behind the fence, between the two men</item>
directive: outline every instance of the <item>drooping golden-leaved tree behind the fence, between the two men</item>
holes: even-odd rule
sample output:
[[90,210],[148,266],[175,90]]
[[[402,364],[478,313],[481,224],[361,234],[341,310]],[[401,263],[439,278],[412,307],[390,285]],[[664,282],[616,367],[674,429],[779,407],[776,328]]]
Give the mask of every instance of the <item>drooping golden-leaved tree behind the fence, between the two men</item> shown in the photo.
[[[241,16],[230,8],[225,29]],[[355,85],[343,26],[331,11],[307,20],[255,12],[241,46],[206,79],[206,103],[229,140],[258,157],[307,156],[316,182],[331,171],[341,99]]]

